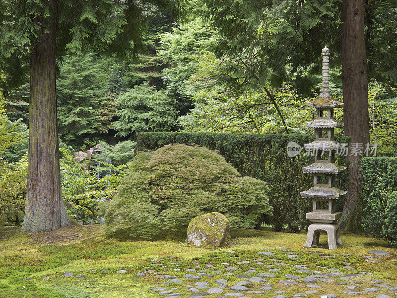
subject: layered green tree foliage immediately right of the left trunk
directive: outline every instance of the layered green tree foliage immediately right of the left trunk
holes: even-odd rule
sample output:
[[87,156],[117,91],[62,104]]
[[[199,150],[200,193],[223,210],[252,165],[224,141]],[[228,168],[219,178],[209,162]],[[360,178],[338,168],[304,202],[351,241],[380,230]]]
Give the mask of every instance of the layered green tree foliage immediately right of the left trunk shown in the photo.
[[69,144],[81,146],[107,133],[116,114],[113,98],[105,92],[106,71],[103,59],[90,53],[66,56],[57,80],[59,131]]

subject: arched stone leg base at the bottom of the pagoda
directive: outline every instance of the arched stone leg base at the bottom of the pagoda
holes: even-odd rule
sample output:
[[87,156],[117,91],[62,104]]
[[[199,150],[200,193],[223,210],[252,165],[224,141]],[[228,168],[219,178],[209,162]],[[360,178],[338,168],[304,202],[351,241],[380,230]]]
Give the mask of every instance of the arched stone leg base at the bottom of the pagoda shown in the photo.
[[317,246],[319,244],[320,231],[326,231],[328,235],[328,248],[336,249],[342,244],[340,240],[339,224],[311,224],[307,231],[307,239],[304,247]]

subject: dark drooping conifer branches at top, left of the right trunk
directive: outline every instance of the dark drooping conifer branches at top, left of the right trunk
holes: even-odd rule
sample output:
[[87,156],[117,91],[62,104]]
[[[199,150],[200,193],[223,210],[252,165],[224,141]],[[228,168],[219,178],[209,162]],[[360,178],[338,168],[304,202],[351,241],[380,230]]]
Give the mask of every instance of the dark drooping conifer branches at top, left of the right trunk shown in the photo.
[[324,45],[337,40],[339,0],[198,3],[199,14],[220,35],[218,78],[234,88],[256,90],[269,82],[273,87],[290,82],[295,75],[305,77]]

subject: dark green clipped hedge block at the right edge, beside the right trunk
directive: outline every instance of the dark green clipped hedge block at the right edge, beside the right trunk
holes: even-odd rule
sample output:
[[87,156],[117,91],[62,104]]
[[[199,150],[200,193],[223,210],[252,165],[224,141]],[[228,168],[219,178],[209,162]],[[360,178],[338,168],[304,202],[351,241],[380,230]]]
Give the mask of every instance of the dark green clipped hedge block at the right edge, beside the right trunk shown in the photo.
[[366,157],[363,170],[363,229],[397,245],[397,158]]

